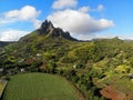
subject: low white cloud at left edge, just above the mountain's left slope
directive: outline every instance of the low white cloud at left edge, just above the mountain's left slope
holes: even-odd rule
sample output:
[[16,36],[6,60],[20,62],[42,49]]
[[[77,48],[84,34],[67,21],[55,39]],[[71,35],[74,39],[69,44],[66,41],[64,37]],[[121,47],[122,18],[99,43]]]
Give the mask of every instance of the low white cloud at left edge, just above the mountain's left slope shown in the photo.
[[29,31],[6,30],[0,33],[0,41],[18,41],[21,37],[28,33]]

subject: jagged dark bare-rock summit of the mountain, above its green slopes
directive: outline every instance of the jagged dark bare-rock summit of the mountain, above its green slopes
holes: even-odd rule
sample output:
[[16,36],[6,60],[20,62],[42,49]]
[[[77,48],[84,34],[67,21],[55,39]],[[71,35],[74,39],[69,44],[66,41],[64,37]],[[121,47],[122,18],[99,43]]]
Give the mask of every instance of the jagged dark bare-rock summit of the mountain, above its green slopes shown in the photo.
[[45,20],[42,22],[40,29],[38,29],[40,34],[49,34],[52,38],[55,37],[62,37],[68,40],[74,40],[76,39],[72,38],[69,32],[64,32],[61,28],[54,28],[51,21]]

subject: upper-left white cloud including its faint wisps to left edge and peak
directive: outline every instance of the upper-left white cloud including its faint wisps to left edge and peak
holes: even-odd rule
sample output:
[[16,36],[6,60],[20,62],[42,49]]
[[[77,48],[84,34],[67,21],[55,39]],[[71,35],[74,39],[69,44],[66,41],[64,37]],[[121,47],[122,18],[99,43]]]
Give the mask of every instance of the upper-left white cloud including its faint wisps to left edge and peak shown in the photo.
[[31,6],[24,6],[20,10],[3,12],[0,17],[0,26],[22,21],[33,23],[34,29],[37,29],[41,24],[41,21],[37,19],[40,12]]

